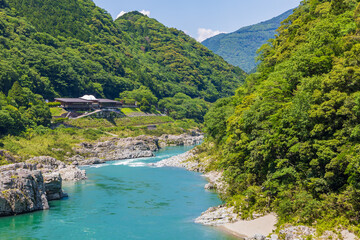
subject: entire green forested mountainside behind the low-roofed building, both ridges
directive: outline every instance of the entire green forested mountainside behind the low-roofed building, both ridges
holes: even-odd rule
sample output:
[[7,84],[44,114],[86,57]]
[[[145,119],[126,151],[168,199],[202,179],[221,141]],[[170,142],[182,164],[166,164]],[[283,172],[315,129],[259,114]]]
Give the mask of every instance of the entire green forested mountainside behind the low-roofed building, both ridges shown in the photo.
[[0,0],[0,7],[5,94],[19,81],[47,99],[116,98],[146,86],[159,99],[181,92],[215,101],[244,79],[183,32],[140,13],[114,22],[91,0]]

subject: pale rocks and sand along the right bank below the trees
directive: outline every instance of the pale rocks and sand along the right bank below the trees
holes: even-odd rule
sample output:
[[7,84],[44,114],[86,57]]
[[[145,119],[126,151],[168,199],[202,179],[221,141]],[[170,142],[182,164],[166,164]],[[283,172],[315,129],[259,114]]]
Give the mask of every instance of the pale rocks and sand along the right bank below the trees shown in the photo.
[[[223,180],[222,172],[211,171],[206,173],[208,161],[199,162],[196,160],[196,152],[188,151],[178,156],[164,159],[157,163],[149,164],[154,167],[181,167],[189,171],[204,173],[203,176],[209,181],[205,189],[216,190],[218,193],[225,193],[228,187]],[[253,214],[253,219],[243,220],[241,216],[234,212],[233,207],[225,204],[211,207],[195,219],[196,223],[207,226],[219,227],[221,230],[229,232],[241,239],[252,240],[305,240],[305,239],[358,239],[353,233],[346,229],[339,229],[337,233],[325,231],[318,235],[315,228],[307,226],[283,226],[278,234],[276,230],[277,216],[274,213],[267,215]],[[270,237],[267,237],[271,235]]]

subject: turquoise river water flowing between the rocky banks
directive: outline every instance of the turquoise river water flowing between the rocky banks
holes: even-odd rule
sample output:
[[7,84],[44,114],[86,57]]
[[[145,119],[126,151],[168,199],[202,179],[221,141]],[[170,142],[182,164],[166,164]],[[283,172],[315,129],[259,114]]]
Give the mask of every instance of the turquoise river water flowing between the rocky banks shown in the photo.
[[234,239],[194,223],[221,204],[204,190],[200,174],[146,165],[189,149],[169,147],[153,158],[84,167],[89,179],[65,183],[70,197],[50,202],[50,210],[0,218],[0,239]]

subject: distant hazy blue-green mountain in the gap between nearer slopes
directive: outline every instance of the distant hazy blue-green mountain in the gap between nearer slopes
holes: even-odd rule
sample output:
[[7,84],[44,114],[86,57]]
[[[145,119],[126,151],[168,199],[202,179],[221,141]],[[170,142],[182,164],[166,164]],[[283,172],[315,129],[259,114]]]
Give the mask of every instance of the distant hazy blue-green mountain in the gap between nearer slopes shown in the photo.
[[243,27],[232,33],[216,35],[202,44],[222,56],[228,63],[250,72],[257,65],[256,51],[269,39],[274,38],[280,23],[292,12],[291,9],[268,21]]

